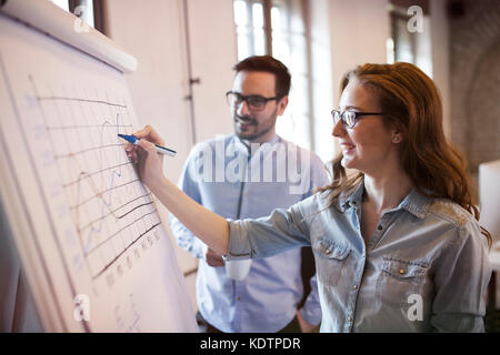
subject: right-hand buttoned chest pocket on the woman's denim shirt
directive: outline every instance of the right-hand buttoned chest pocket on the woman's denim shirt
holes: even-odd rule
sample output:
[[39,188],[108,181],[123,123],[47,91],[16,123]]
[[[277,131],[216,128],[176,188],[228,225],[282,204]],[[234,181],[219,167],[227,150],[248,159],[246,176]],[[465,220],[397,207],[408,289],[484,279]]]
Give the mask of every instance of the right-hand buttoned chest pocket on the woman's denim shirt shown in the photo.
[[423,296],[427,273],[426,262],[384,257],[377,281],[377,298],[390,306],[409,305],[411,295]]

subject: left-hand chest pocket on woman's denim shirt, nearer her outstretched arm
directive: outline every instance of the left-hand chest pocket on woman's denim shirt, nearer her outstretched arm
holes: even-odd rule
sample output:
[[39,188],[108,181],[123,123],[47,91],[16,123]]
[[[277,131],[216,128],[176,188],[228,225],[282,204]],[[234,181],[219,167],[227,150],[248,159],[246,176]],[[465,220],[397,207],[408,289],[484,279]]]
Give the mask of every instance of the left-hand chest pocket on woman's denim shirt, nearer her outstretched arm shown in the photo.
[[336,286],[351,250],[329,239],[319,239],[312,244],[312,251],[318,281],[326,286]]

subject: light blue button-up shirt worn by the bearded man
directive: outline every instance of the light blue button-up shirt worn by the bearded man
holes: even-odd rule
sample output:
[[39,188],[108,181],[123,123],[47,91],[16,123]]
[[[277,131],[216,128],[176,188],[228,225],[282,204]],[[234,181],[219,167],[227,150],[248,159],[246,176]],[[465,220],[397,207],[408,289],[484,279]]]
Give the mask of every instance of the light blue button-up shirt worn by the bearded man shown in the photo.
[[[192,149],[179,187],[221,216],[256,219],[289,207],[327,183],[327,172],[316,154],[278,135],[253,151],[229,135]],[[207,246],[173,215],[170,226],[178,244],[200,258],[197,304],[211,325],[222,332],[277,332],[294,317],[303,295],[299,248],[256,260],[248,276],[234,281],[228,278],[224,267],[207,264]],[[313,280],[301,310],[311,324],[321,322],[317,287]]]

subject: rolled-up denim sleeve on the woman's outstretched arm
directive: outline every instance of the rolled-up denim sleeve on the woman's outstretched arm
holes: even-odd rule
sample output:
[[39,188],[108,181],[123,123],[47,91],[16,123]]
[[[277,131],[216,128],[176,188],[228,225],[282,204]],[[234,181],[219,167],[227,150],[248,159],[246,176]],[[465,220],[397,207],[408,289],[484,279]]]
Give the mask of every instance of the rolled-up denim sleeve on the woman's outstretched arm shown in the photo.
[[288,210],[277,209],[267,217],[228,220],[229,254],[227,260],[268,257],[292,247],[310,245],[299,207],[308,200],[301,201]]

